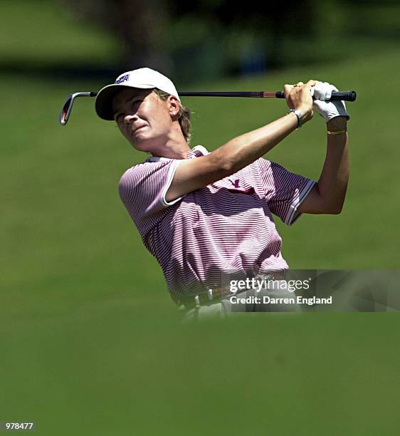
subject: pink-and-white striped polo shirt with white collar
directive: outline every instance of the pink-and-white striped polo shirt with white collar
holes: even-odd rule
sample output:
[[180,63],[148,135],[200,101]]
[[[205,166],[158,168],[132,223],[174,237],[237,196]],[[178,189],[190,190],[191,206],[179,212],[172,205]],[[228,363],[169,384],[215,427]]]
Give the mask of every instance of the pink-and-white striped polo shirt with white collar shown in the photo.
[[[208,154],[197,145],[187,159]],[[128,169],[120,197],[144,246],[159,262],[174,301],[221,285],[226,274],[285,271],[273,214],[293,224],[315,181],[259,158],[172,202],[165,195],[182,160],[149,157]]]

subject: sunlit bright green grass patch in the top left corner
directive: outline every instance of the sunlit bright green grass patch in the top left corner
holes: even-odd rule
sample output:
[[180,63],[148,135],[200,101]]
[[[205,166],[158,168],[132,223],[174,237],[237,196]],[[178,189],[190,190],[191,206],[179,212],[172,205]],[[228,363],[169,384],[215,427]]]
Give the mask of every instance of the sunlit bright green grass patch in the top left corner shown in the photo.
[[111,33],[77,21],[58,1],[1,0],[0,36],[0,66],[110,66],[120,55]]

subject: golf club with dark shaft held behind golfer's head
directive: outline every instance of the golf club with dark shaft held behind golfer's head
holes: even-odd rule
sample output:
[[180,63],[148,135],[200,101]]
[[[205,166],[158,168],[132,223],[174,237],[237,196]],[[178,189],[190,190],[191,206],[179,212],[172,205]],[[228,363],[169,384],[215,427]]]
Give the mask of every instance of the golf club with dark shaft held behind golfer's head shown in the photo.
[[[251,97],[251,98],[285,98],[283,91],[181,91],[178,93],[181,97]],[[73,93],[68,95],[63,108],[60,111],[58,121],[61,125],[68,123],[68,118],[73,106],[73,101],[77,97],[95,97],[98,95],[94,91]],[[355,91],[332,91],[330,101],[345,100],[355,101],[357,94]]]

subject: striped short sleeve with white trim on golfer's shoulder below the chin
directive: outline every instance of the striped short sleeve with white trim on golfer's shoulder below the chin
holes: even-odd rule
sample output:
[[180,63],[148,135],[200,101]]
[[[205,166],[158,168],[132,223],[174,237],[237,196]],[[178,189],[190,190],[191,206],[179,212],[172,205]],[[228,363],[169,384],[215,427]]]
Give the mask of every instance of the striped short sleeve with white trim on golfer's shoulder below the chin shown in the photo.
[[165,195],[174,178],[179,160],[144,162],[125,171],[118,185],[120,198],[140,234],[147,234],[172,204]]

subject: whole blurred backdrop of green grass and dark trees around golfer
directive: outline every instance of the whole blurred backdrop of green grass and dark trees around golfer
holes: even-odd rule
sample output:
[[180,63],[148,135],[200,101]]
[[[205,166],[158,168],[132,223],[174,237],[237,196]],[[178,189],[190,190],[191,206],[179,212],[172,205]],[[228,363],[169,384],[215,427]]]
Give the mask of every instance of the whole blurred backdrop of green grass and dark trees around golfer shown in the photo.
[[[277,219],[283,256],[293,269],[399,269],[399,5],[300,1],[267,14],[151,1],[164,33],[144,51],[135,32],[116,30],[123,14],[105,23],[143,3],[96,5],[0,4],[0,421],[35,421],[38,435],[397,434],[396,314],[180,323],[118,197],[144,155],[93,100],[78,100],[66,127],[58,112],[69,93],[98,90],[126,66],[169,71],[178,90],[310,78],[354,89],[344,210],[293,227]],[[183,103],[194,110],[191,145],[209,150],[286,110],[281,100]],[[325,140],[315,115],[268,158],[317,179]]]

